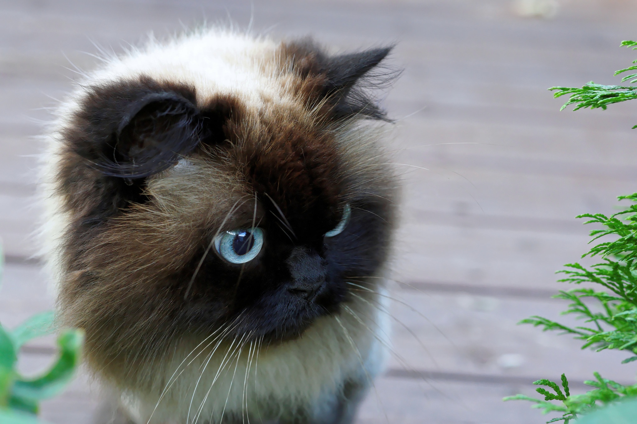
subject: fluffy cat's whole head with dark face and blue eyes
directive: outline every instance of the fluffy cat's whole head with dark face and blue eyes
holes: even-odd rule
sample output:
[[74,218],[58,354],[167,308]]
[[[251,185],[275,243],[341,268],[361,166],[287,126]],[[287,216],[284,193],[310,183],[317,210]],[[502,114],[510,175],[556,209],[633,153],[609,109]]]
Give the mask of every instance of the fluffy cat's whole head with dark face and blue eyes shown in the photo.
[[389,48],[179,69],[170,48],[86,81],[52,153],[62,316],[103,360],[188,334],[296,338],[387,259],[395,179],[360,121],[385,118],[364,83]]

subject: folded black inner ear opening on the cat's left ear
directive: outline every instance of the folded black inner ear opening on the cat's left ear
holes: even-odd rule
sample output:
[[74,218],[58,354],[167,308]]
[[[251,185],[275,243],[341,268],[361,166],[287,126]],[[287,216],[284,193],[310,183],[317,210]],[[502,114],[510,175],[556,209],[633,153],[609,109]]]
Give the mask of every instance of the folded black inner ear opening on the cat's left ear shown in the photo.
[[120,113],[115,113],[117,127],[97,151],[95,166],[105,175],[148,177],[199,144],[199,111],[180,93],[141,92]]

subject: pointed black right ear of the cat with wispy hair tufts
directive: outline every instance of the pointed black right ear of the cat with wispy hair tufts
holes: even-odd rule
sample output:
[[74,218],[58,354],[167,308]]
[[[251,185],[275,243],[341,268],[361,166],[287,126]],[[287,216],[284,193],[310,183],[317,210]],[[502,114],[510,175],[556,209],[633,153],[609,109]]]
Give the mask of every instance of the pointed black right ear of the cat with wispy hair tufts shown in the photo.
[[396,78],[396,71],[385,69],[378,72],[378,65],[392,48],[373,48],[327,59],[325,94],[333,102],[335,118],[364,116],[375,120],[387,119],[371,90],[385,88]]

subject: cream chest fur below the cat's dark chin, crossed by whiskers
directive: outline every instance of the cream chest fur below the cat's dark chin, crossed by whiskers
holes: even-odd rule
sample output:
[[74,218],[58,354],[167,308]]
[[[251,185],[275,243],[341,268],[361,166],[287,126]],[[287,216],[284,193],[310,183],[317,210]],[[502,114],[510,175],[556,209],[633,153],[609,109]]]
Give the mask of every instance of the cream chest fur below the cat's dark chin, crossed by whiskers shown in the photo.
[[[199,348],[185,343],[188,349],[175,353],[153,390],[124,393],[124,404],[138,423],[185,423],[197,416],[219,422],[222,414],[290,419],[307,407],[322,416],[326,411],[320,409],[333,406],[344,381],[371,385],[385,360],[387,315],[381,317],[363,301],[349,308],[356,316],[320,318],[300,339],[258,350],[257,343],[239,350],[240,338],[234,345],[219,344],[215,336]],[[164,392],[166,386],[171,388]]]

